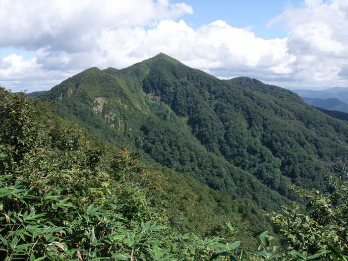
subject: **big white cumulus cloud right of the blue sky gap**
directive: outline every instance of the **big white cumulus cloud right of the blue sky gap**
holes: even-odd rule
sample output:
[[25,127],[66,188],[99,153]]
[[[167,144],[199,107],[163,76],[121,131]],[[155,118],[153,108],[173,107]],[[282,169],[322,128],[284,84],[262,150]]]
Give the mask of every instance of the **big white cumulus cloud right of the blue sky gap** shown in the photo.
[[284,23],[295,83],[307,86],[348,87],[339,73],[348,59],[348,2],[306,0],[302,7],[289,6],[270,24]]

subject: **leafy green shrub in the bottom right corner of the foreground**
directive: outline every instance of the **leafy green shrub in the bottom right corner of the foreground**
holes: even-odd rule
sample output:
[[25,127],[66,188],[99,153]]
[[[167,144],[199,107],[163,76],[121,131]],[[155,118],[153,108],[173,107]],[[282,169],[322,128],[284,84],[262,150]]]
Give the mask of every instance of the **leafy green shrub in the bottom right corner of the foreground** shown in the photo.
[[288,250],[316,254],[323,252],[323,260],[333,258],[334,249],[348,254],[348,186],[342,180],[328,176],[331,193],[293,188],[307,199],[308,214],[299,212],[293,202],[283,207],[282,214],[273,213],[271,220],[280,227]]

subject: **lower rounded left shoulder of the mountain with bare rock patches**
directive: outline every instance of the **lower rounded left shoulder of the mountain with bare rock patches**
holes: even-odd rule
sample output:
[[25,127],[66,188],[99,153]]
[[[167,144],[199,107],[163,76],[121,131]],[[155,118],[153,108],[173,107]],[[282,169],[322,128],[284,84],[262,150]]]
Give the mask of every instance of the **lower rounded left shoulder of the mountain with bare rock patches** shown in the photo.
[[56,112],[109,142],[126,142],[132,122],[149,112],[118,79],[88,69],[53,87],[42,99],[55,100]]

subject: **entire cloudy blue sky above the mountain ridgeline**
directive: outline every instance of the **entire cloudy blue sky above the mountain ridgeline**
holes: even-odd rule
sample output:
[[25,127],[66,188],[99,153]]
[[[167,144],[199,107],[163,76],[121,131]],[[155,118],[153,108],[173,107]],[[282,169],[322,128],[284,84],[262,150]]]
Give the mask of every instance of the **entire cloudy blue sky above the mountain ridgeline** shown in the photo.
[[346,0],[0,0],[0,85],[47,90],[166,53],[220,79],[348,87]]

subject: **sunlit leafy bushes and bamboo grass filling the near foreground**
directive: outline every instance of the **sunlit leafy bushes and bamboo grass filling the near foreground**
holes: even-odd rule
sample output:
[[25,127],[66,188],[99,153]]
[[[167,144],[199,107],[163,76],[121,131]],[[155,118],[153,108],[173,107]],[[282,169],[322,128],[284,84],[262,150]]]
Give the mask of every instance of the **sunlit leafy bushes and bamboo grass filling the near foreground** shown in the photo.
[[[344,183],[332,181],[337,186],[330,195],[299,189],[309,198],[311,216],[274,215],[275,222],[286,224],[285,253],[267,231],[258,237],[257,250],[242,248],[240,228],[230,223],[224,237],[180,235],[156,208],[166,205],[154,201],[163,192],[159,173],[144,171],[127,149],[104,164],[104,149],[84,141],[76,125],[48,113],[48,104],[5,90],[0,99],[2,260],[346,258],[341,254],[347,251]],[[294,222],[302,226],[292,230]],[[304,234],[308,231],[313,238]]]

